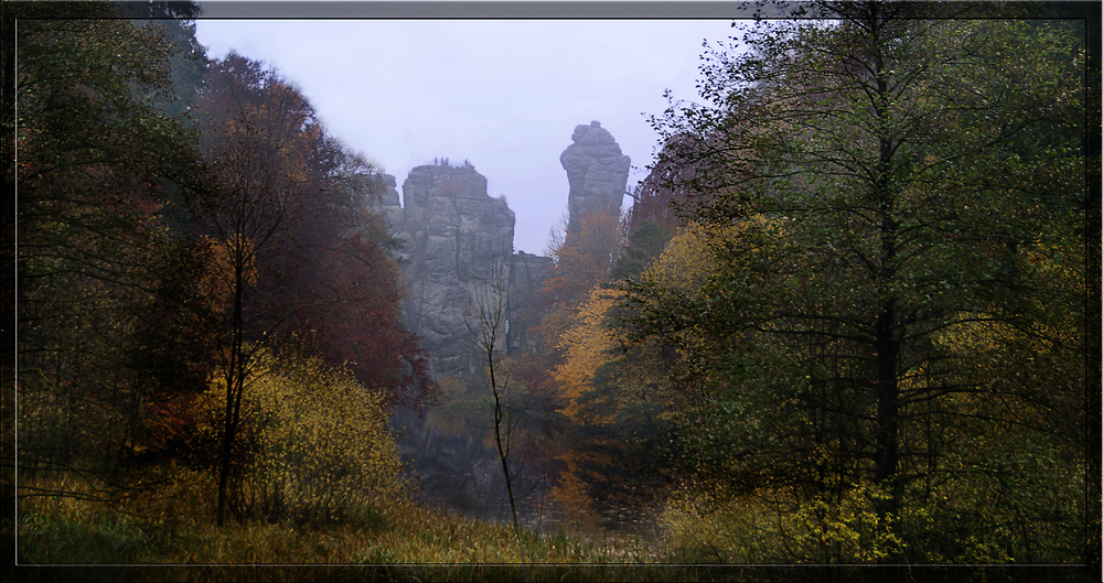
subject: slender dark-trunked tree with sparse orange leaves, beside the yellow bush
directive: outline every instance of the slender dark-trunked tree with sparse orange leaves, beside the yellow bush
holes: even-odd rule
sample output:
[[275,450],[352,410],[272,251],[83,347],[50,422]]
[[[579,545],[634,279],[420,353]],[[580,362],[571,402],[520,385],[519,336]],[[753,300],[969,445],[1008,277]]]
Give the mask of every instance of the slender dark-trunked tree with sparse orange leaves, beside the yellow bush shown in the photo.
[[[317,129],[304,99],[258,63],[232,54],[216,64],[212,80],[203,104],[211,116],[205,150],[218,191],[206,201],[202,217],[215,258],[212,282],[228,300],[219,367],[226,389],[218,461],[221,526],[227,508],[234,508],[229,499],[233,454],[246,384],[260,349],[250,342],[259,338],[249,334],[264,316],[274,316],[275,324],[266,320],[268,327],[275,327],[287,310],[268,305],[254,293],[261,270],[275,264],[277,258],[270,256],[287,244],[281,238],[301,209],[298,190],[307,179],[303,162],[310,140],[303,133]],[[274,271],[279,273],[278,268]],[[285,312],[278,312],[279,307]]]

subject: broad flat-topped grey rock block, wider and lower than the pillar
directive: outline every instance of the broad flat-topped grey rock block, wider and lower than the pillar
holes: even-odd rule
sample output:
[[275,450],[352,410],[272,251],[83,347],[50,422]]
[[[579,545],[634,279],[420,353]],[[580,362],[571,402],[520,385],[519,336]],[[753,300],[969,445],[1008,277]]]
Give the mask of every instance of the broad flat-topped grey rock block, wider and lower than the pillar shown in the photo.
[[[393,177],[384,182],[394,190]],[[505,294],[502,348],[521,347],[522,332],[533,324],[526,306],[550,259],[513,252],[514,213],[504,199],[486,194],[485,176],[470,163],[417,166],[403,194],[405,206],[397,206],[397,191],[384,193],[381,209],[390,234],[404,241],[407,324],[429,350],[435,377],[481,371],[472,334],[480,304]]]

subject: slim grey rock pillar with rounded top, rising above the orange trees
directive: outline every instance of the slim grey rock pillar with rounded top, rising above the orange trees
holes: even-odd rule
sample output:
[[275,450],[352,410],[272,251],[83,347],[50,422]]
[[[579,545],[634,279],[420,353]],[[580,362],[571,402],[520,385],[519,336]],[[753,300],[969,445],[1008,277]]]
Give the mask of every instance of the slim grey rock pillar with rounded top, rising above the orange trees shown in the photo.
[[621,153],[617,140],[598,121],[575,127],[570,139],[575,143],[559,154],[559,163],[570,185],[567,230],[574,233],[587,214],[620,214],[632,159]]

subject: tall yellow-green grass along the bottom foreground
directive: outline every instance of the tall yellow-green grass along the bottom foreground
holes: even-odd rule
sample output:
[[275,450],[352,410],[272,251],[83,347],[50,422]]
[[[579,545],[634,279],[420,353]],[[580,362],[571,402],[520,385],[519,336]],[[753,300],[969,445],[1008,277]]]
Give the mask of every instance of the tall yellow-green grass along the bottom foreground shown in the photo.
[[[582,579],[583,565],[591,565],[585,566],[586,580],[635,581],[644,571],[650,573],[644,580],[671,580],[668,568],[654,564],[661,555],[640,540],[518,532],[411,501],[314,526],[255,520],[218,528],[212,510],[210,503],[179,487],[113,506],[24,497],[17,521],[18,559],[21,564],[100,565],[100,572],[107,572],[104,565],[189,565],[111,572],[129,581],[569,581]],[[321,569],[325,565],[334,569]],[[23,579],[49,581],[71,573],[36,568],[26,574]]]

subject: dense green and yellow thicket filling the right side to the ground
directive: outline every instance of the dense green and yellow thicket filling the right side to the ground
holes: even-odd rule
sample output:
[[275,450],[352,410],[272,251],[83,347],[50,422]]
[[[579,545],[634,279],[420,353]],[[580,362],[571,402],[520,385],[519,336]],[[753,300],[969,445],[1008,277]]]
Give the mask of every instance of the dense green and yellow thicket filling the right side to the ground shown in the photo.
[[677,350],[679,474],[751,557],[1084,560],[1083,29],[827,8],[656,120],[692,224],[625,322]]

